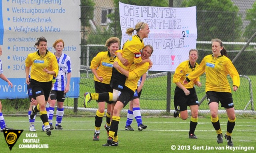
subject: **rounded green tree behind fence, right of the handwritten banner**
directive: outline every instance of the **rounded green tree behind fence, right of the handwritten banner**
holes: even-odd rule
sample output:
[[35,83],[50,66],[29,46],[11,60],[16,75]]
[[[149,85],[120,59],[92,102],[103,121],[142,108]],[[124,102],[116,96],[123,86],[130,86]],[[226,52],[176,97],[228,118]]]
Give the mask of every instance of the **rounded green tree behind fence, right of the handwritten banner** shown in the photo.
[[184,0],[182,7],[196,6],[198,41],[219,38],[236,41],[241,37],[242,19],[231,0]]

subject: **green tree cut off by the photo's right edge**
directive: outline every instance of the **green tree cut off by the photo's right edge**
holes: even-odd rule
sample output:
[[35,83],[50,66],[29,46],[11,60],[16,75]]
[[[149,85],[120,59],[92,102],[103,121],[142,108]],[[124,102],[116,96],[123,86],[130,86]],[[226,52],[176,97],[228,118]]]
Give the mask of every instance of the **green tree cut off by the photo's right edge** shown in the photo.
[[[250,21],[250,24],[246,26],[244,31],[244,37],[248,40],[256,31],[256,2],[254,2],[251,9],[246,11],[245,19]],[[253,39],[253,42],[256,42],[256,37]]]

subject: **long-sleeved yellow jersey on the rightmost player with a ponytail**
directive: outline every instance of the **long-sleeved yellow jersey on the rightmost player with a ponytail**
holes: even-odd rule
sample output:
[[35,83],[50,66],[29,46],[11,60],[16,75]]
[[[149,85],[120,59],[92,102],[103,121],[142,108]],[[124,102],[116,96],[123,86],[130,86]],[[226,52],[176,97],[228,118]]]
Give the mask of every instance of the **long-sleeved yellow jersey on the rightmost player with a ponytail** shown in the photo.
[[230,92],[227,75],[233,80],[233,86],[240,86],[240,77],[232,61],[226,56],[215,58],[213,55],[207,55],[200,63],[198,69],[188,75],[188,79],[196,78],[206,74],[206,92]]

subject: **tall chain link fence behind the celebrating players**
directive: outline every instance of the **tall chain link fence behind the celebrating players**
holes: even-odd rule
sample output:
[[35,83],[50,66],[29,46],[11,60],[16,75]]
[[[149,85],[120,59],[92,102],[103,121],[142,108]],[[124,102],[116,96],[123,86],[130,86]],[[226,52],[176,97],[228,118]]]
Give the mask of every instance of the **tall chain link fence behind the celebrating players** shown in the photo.
[[[256,2],[254,0],[121,0],[122,3],[139,6],[197,7],[196,49],[198,63],[204,56],[212,54],[210,40],[219,38],[228,51],[229,58],[240,74],[240,88],[232,92],[235,109],[241,113],[255,113],[256,97]],[[93,14],[93,15],[92,15]],[[93,74],[90,70],[92,58],[104,47],[109,37],[121,38],[118,0],[81,0],[81,68],[80,97],[78,111],[95,112],[95,100],[89,108],[83,108],[84,92],[95,92]],[[121,45],[122,46],[122,45]],[[75,59],[73,59],[75,60]],[[149,71],[140,97],[140,108],[145,115],[158,115],[174,111],[174,89],[172,72]],[[229,77],[230,84],[232,80]],[[170,82],[171,80],[171,82]],[[200,100],[200,113],[209,113],[205,99],[205,75],[200,77],[202,87],[196,87]],[[170,100],[169,100],[170,99]],[[67,105],[73,106],[67,99]],[[128,106],[124,108],[126,112]],[[188,108],[189,109],[189,108]],[[220,108],[220,111],[224,111]]]

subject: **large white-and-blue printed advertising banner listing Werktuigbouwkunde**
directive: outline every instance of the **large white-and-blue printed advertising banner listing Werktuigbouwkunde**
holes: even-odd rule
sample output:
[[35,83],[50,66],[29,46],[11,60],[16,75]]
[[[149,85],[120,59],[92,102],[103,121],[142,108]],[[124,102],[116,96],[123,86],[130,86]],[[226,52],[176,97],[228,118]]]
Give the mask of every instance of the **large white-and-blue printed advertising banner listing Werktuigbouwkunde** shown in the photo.
[[35,52],[38,37],[47,39],[48,50],[63,39],[63,52],[72,61],[70,91],[79,96],[80,82],[80,0],[0,0],[0,45],[2,69],[13,88],[0,79],[0,98],[27,98],[25,59]]

